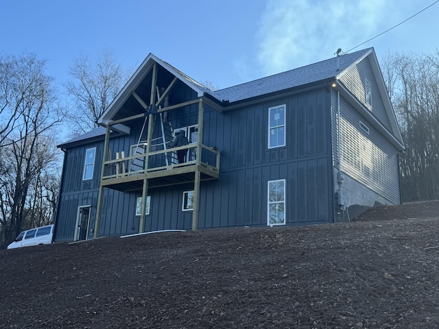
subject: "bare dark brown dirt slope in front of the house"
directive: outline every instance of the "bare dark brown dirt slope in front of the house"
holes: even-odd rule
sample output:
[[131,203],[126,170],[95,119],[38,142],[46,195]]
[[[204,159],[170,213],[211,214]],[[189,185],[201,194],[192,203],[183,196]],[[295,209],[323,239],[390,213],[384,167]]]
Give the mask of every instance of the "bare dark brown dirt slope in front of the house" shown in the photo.
[[439,202],[0,252],[1,328],[439,328]]

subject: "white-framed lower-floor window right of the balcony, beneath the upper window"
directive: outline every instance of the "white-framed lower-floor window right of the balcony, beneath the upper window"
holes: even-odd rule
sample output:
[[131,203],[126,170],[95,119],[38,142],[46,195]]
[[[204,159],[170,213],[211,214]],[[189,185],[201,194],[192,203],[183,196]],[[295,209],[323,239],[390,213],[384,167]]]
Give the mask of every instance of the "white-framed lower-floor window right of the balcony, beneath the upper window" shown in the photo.
[[268,182],[268,217],[267,225],[285,225],[285,180]]

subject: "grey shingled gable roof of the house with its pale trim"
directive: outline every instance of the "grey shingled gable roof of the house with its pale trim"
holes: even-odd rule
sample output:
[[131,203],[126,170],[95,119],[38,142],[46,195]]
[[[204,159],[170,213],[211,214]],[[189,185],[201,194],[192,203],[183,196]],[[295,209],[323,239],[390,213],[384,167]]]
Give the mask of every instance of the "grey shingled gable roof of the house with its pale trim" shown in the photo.
[[[346,53],[342,56],[329,58],[328,60],[322,60],[297,69],[292,69],[283,73],[270,75],[258,80],[215,91],[209,90],[209,88],[196,82],[185,73],[182,73],[174,66],[171,66],[171,64],[150,53],[139,66],[137,71],[134,72],[134,75],[132,75],[126,85],[123,86],[119,94],[110,103],[110,106],[108,106],[104,114],[98,119],[97,123],[99,125],[107,125],[110,122],[112,117],[117,113],[121,106],[123,106],[123,103],[125,103],[128,97],[132,95],[132,91],[141,84],[143,79],[145,79],[154,63],[159,64],[169,71],[169,73],[177,77],[182,83],[189,86],[189,88],[197,93],[197,97],[202,98],[206,103],[209,103],[209,105],[226,110],[235,108],[241,103],[253,101],[259,97],[268,97],[276,93],[285,93],[289,90],[339,80],[344,73],[348,72],[349,69],[358,64],[361,60],[364,60],[366,57],[370,58],[372,71],[377,79],[379,90],[383,97],[385,110],[390,120],[391,131],[388,131],[385,127],[380,125],[377,118],[374,118],[373,116],[370,118],[372,121],[376,121],[376,124],[380,126],[382,132],[388,134],[388,136],[394,140],[396,145],[399,145],[399,147],[403,149],[401,132],[399,131],[392,104],[390,103],[390,98],[388,97],[381,69],[379,69],[379,64],[373,48],[362,49],[360,51],[355,51],[354,53]],[[92,130],[92,132],[99,136],[104,134],[103,130]],[[62,145],[82,141],[88,138],[91,138],[91,136],[84,134]]]

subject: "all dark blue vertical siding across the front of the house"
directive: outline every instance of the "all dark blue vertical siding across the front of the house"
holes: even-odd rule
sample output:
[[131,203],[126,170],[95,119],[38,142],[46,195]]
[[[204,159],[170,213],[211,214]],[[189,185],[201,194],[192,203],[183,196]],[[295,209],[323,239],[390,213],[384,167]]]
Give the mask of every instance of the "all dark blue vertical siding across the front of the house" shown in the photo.
[[[181,97],[193,97],[185,88],[181,88],[181,93]],[[267,225],[270,180],[286,182],[287,225],[332,222],[329,99],[327,90],[320,89],[222,113],[206,108],[203,143],[218,147],[221,164],[218,180],[201,182],[198,228]],[[268,149],[268,109],[283,104],[287,111],[286,145]],[[174,128],[198,123],[198,105],[171,111],[169,120]],[[130,136],[110,140],[112,158],[121,150],[128,156],[130,145],[139,141],[142,124],[139,122],[138,127],[132,128]],[[141,140],[146,139],[146,132],[143,135]],[[94,145],[99,150],[97,160],[100,162],[103,142]],[[66,155],[69,163],[76,160],[78,163],[74,166],[82,168],[86,148],[69,149]],[[69,158],[73,154],[75,156]],[[89,186],[83,184],[71,191],[64,189],[63,193],[75,191],[71,197],[78,199],[80,191],[89,189],[93,193],[90,203],[96,206],[100,177],[100,166],[97,167],[95,179]],[[78,175],[80,173],[64,173],[64,183],[78,185]],[[150,188],[147,193],[151,197],[150,215],[145,217],[145,231],[191,229],[192,211],[182,211],[182,195],[192,190],[193,184]],[[105,188],[99,234],[138,232],[139,216],[134,212],[140,196],[141,191],[120,193]],[[66,199],[67,195],[62,198]],[[73,239],[80,205],[78,201],[62,202],[58,216],[62,224],[57,228],[59,240],[68,236]],[[93,225],[94,220],[95,210]]]

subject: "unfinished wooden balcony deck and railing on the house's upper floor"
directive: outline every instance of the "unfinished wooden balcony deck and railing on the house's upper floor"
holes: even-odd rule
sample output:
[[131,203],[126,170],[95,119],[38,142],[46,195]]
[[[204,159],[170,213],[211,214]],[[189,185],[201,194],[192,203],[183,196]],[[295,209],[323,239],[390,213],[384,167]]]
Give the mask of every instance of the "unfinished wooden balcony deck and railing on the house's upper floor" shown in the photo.
[[[180,149],[187,149],[188,156],[187,162],[178,164],[176,151]],[[197,171],[201,181],[215,180],[219,178],[219,151],[200,143],[128,157],[119,151],[115,160],[104,161],[103,169],[101,186],[123,192],[141,191],[145,179],[148,188],[195,182]]]

